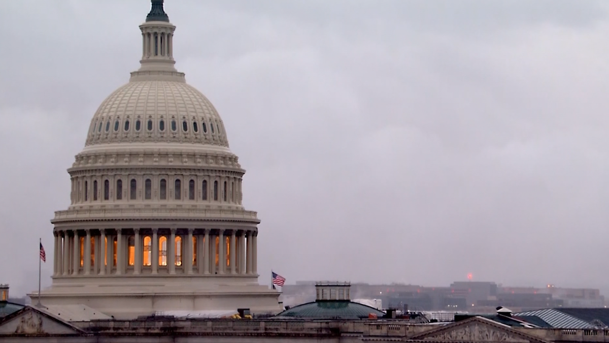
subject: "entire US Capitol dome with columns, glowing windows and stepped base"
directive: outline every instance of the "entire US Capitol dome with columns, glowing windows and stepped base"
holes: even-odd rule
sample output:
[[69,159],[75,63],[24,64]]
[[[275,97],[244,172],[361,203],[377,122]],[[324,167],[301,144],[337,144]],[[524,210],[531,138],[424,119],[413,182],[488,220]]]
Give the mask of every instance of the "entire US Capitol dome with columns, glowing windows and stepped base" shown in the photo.
[[[116,318],[163,311],[279,312],[258,284],[256,212],[213,104],[174,67],[174,31],[152,0],[141,67],[91,119],[55,212],[54,274],[41,303]],[[37,298],[33,292],[30,297]]]

